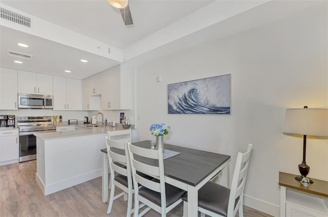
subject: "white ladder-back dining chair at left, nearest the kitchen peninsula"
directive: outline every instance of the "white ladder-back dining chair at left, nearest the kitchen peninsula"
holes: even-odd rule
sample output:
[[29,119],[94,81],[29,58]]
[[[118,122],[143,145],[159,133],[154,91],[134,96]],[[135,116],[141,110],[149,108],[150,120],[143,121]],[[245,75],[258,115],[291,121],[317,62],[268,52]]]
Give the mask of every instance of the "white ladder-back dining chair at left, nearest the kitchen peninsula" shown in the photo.
[[[107,214],[112,210],[113,201],[124,196],[128,195],[128,208],[127,208],[127,217],[131,216],[132,210],[132,193],[133,193],[133,184],[132,184],[132,175],[130,161],[128,158],[127,152],[127,141],[111,140],[108,137],[105,138],[107,146],[107,154],[110,167],[110,197],[108,203]],[[113,151],[115,150],[115,152]],[[116,172],[117,175],[114,175]],[[114,196],[115,186],[122,189],[123,192]]]

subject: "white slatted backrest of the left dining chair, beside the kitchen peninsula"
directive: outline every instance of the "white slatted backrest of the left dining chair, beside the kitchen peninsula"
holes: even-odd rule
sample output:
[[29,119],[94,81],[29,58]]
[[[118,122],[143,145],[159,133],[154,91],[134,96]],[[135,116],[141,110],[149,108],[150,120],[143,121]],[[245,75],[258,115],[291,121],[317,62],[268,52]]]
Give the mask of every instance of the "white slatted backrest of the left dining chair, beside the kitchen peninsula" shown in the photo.
[[[111,140],[108,137],[105,137],[108,161],[111,174],[114,175],[114,171],[120,175],[128,177],[128,186],[132,187],[132,175],[131,175],[131,166],[128,158],[128,147],[127,142],[122,142],[119,140]],[[121,166],[119,166],[119,164]],[[124,167],[126,166],[126,168]],[[111,179],[114,179],[114,176],[111,176]]]

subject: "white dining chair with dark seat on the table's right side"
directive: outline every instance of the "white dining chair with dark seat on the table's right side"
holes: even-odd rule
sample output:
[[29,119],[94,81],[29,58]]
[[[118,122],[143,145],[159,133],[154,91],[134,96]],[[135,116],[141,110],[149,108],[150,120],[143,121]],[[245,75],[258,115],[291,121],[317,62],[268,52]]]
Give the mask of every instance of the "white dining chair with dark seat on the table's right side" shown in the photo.
[[[243,216],[242,197],[247,176],[247,170],[252,151],[252,144],[248,144],[245,153],[238,153],[231,189],[209,181],[198,190],[198,211],[200,216]],[[188,196],[182,197],[183,216],[187,215]]]

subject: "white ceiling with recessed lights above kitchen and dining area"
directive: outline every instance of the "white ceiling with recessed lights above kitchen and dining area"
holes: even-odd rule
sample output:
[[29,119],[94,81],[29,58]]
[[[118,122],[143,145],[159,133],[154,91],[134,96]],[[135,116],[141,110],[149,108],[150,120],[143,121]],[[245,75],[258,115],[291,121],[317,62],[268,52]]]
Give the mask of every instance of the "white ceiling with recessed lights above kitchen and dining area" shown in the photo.
[[[130,54],[131,58],[141,53],[148,53],[149,58],[150,55],[154,56],[156,49],[162,52],[166,47],[165,52],[168,53],[168,50],[178,47],[186,48],[215,36],[223,37],[267,23],[324,1],[285,1],[288,4],[283,1],[254,2],[260,1],[130,0],[134,22],[131,26],[124,25],[119,10],[111,7],[107,0],[1,0],[1,6],[9,6],[24,12],[24,15],[46,20],[113,46],[122,53],[128,53],[124,55]],[[244,6],[246,3],[250,4],[249,8]],[[232,8],[234,10],[230,10]],[[117,58],[97,55],[78,46],[63,45],[49,38],[8,28],[2,23],[1,19],[1,67],[83,79],[120,63]],[[50,33],[65,38],[66,35],[61,34],[56,31]],[[30,47],[19,47],[17,42],[24,42]],[[34,56],[32,60],[22,60],[23,64],[17,64],[13,62],[13,57],[7,55],[8,49]],[[83,58],[89,62],[80,62]],[[64,70],[72,72],[68,74]]]

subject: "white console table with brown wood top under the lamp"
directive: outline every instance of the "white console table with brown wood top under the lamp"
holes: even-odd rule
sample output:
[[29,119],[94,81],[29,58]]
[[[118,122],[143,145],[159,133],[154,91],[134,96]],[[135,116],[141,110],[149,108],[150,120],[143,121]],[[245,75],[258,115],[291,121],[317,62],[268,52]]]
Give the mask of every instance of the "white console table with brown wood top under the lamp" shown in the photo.
[[304,187],[295,176],[279,172],[280,216],[328,217],[328,182],[311,178],[313,183]]

